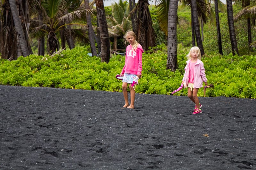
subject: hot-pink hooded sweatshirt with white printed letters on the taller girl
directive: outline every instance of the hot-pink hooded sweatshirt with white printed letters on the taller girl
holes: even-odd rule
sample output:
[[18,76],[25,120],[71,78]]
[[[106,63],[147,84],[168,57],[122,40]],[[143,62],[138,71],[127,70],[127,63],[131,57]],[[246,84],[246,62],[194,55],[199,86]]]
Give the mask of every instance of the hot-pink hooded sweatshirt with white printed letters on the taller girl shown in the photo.
[[126,47],[125,64],[121,75],[124,73],[141,75],[143,52],[143,48],[140,44],[136,51],[132,51],[131,44]]

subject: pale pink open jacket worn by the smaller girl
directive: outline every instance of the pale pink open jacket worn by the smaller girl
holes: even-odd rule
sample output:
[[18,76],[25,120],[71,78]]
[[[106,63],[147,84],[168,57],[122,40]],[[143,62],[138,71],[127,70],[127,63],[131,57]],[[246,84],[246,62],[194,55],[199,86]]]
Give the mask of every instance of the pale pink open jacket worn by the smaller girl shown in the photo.
[[[188,64],[190,63],[190,61],[191,59],[186,62],[187,65],[185,67],[185,74],[182,79],[182,81],[184,81],[184,84],[186,86],[188,86],[188,79],[189,79]],[[201,60],[197,59],[197,62],[195,64],[195,70],[194,70],[194,88],[198,89],[203,87],[203,82],[207,82],[207,78],[205,77],[204,63]]]

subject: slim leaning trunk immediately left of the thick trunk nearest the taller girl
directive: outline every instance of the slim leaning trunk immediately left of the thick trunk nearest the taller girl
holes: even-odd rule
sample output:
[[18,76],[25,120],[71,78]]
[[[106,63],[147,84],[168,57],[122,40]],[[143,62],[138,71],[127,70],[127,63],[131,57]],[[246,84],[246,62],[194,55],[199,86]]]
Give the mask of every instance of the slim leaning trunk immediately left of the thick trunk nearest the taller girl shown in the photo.
[[[89,5],[89,0],[84,0],[84,5],[85,5],[85,9],[87,10],[91,9]],[[89,33],[88,36],[91,44],[92,56],[97,56],[97,50],[96,50],[95,41],[94,41],[94,31],[92,28],[92,18],[89,12],[86,13],[86,22],[88,26],[88,33]]]

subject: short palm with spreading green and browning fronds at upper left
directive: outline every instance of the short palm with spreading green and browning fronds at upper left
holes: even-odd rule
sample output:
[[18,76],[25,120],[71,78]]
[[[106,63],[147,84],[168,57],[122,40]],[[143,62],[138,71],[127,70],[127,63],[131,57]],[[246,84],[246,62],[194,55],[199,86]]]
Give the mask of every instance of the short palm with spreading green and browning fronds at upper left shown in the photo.
[[[76,36],[83,39],[83,41],[88,41],[84,33],[86,30],[85,24],[73,23],[73,21],[84,17],[86,11],[92,12],[92,10],[85,10],[83,7],[80,7],[75,11],[67,13],[69,4],[65,0],[42,0],[41,4],[36,3],[33,5],[35,6],[34,10],[42,10],[43,21],[32,19],[31,33],[34,37],[46,37],[48,54],[52,55],[56,50],[60,49],[60,43],[57,38],[57,34],[60,31],[64,31],[66,37],[73,38]],[[79,28],[70,27],[73,25],[79,26]],[[70,47],[72,48],[72,46]]]

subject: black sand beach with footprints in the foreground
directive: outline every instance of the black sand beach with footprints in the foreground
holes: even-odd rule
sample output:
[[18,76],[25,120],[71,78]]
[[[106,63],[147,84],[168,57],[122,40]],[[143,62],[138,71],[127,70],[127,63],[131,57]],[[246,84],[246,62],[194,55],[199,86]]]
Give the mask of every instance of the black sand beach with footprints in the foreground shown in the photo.
[[256,169],[256,100],[0,86],[0,169]]

